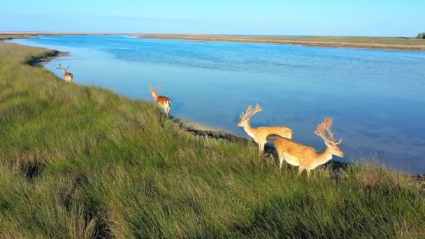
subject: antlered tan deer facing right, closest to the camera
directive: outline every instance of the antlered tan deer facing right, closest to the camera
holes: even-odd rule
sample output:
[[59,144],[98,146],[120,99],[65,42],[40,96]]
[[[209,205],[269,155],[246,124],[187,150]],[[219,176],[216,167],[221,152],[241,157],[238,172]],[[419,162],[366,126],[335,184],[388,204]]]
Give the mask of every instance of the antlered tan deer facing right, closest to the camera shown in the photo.
[[[287,138],[277,138],[275,140],[275,148],[278,151],[279,166],[282,168],[283,160],[288,164],[298,166],[298,175],[303,173],[304,169],[307,170],[307,176],[310,176],[310,171],[317,166],[326,163],[332,159],[332,155],[344,157],[343,151],[338,146],[343,142],[343,139],[335,140],[333,138],[332,129],[333,119],[326,118],[324,123],[317,125],[315,134],[320,136],[326,145],[323,152],[317,152],[314,148],[301,145]],[[325,135],[325,129],[328,131],[329,138]]]

